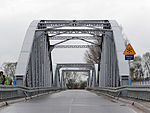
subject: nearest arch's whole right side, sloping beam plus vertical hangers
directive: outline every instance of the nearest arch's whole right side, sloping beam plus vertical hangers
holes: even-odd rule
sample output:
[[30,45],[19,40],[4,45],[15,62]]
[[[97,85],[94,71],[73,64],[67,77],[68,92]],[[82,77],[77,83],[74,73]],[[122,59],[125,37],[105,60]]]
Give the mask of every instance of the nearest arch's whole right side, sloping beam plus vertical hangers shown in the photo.
[[113,33],[103,36],[99,86],[118,87],[129,85],[129,65],[123,52],[125,44],[121,30],[115,21],[110,21]]

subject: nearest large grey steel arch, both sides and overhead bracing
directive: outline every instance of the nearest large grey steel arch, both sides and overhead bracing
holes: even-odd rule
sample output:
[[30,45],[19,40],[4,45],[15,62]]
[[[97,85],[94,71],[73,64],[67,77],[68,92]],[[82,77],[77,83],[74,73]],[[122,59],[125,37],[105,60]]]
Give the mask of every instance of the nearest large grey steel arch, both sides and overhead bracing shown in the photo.
[[[68,27],[67,29],[64,27]],[[71,28],[69,28],[71,27]],[[78,27],[78,29],[76,28]],[[84,28],[83,28],[84,27]],[[77,36],[61,36],[73,34]],[[81,34],[81,36],[79,36]],[[90,36],[83,36],[88,34]],[[50,40],[64,40],[54,45]],[[88,40],[102,40],[100,45]],[[91,45],[59,45],[68,40],[82,40]],[[52,56],[54,48],[98,47],[98,85],[117,87],[129,84],[129,65],[124,60],[120,27],[114,20],[36,20],[27,32],[16,69],[16,84],[26,87],[51,87],[53,81]],[[55,79],[56,80],[56,79]]]

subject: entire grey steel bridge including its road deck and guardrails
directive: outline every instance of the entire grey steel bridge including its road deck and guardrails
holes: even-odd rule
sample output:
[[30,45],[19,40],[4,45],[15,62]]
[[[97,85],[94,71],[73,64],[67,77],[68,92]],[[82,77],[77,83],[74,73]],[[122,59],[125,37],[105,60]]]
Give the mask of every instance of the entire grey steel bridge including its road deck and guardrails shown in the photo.
[[[64,45],[70,40],[84,41],[88,45]],[[101,43],[97,44],[95,40]],[[57,48],[96,48],[99,51],[98,63],[58,63],[54,69],[52,51]],[[36,99],[5,107],[1,112],[38,113],[42,110],[44,113],[134,113],[128,107],[130,105],[122,106],[120,102],[108,101],[89,91],[62,91],[66,89],[67,72],[84,72],[88,77],[86,90],[117,97],[117,100],[124,100],[123,104],[132,103],[141,108],[139,101],[120,98],[150,101],[150,86],[129,86],[129,64],[124,59],[124,50],[122,33],[114,20],[33,21],[26,32],[18,59],[16,86],[0,85],[0,107]],[[47,95],[52,93],[55,94]],[[47,96],[44,98],[37,98],[45,94]],[[146,102],[145,105],[147,104]],[[143,105],[142,108],[145,109],[146,106]],[[150,112],[149,108],[145,111]]]

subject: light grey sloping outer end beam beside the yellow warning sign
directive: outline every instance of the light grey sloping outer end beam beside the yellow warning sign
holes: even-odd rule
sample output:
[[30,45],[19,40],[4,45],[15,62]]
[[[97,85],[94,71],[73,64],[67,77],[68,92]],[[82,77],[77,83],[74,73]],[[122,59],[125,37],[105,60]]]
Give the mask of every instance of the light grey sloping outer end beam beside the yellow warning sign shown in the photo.
[[113,30],[113,44],[115,45],[120,86],[129,85],[129,63],[127,60],[124,60],[123,52],[126,47],[123,41],[121,28],[116,21],[110,20],[109,22],[111,24],[111,29]]

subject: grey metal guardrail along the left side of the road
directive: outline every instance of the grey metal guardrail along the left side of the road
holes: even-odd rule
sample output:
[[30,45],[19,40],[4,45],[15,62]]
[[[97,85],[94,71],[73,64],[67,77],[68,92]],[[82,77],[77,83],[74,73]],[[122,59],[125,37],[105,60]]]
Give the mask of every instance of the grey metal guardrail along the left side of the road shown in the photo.
[[0,99],[10,99],[10,98],[19,98],[19,97],[30,97],[33,95],[46,93],[50,91],[64,90],[62,88],[28,88],[21,86],[5,86],[0,85]]

